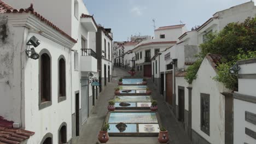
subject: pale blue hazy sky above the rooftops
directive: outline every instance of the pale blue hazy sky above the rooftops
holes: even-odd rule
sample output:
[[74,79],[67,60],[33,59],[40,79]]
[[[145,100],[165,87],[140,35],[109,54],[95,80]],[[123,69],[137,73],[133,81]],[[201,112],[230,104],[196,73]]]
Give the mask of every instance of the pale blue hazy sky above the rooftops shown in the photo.
[[214,13],[250,0],[84,0],[97,23],[112,28],[114,41],[131,35],[154,36],[161,26],[186,24],[188,30],[202,25]]

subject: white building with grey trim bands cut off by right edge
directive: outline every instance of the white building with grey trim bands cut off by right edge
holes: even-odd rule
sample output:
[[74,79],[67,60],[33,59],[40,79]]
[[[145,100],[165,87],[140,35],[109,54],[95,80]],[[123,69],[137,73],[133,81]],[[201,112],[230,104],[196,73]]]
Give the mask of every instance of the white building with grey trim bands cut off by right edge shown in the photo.
[[238,92],[234,93],[234,144],[256,143],[256,59],[238,61]]

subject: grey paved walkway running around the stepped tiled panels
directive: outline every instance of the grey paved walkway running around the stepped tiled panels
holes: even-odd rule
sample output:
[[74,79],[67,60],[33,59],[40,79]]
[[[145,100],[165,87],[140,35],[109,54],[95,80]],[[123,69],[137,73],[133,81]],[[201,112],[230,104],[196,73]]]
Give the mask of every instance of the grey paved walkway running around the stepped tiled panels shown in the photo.
[[[91,111],[91,115],[83,125],[82,133],[77,143],[79,144],[94,144],[98,142],[97,136],[101,129],[104,119],[107,115],[108,100],[114,97],[114,88],[117,87],[119,77],[129,76],[127,72],[120,68],[114,68],[113,81],[107,85],[107,87],[100,94],[96,101],[95,107]],[[158,112],[161,117],[162,124],[165,125],[169,132],[170,140],[168,143],[172,144],[188,144],[190,143],[185,135],[184,130],[179,126],[176,119],[173,117],[173,113],[166,105],[164,99],[156,91],[155,84],[148,80],[148,87],[152,89],[153,99],[158,100]],[[99,142],[98,142],[99,143]],[[143,143],[158,143],[158,137],[109,137],[107,143],[113,144],[143,144]]]

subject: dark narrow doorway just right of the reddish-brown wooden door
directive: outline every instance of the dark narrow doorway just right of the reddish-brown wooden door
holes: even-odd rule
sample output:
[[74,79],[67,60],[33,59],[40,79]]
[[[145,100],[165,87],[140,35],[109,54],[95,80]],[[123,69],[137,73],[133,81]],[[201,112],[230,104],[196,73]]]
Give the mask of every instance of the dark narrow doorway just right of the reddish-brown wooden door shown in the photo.
[[179,121],[184,122],[184,87],[178,86]]

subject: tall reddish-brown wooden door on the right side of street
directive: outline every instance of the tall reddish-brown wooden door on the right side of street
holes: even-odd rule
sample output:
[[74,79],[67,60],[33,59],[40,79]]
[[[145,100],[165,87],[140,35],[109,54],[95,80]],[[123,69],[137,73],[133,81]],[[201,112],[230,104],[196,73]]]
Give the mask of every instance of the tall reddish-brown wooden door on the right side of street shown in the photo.
[[172,73],[166,74],[166,102],[172,105]]

